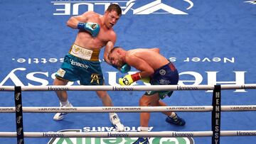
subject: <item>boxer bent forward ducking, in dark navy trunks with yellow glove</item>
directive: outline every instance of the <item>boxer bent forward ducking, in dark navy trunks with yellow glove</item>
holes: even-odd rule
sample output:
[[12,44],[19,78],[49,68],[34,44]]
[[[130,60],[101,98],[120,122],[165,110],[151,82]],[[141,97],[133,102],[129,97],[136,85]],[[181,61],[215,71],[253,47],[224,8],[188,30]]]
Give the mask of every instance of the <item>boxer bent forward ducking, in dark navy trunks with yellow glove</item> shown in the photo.
[[[128,86],[133,82],[142,79],[144,82],[150,82],[153,85],[168,85],[178,84],[178,71],[176,67],[169,62],[163,55],[159,54],[159,48],[138,48],[133,50],[124,50],[123,48],[115,47],[110,51],[109,55],[112,65],[121,66],[124,63],[136,68],[140,72],[135,74],[127,74],[119,78],[119,84]],[[139,106],[166,106],[161,101],[166,96],[171,96],[173,92],[146,92],[139,99]],[[163,112],[166,117],[166,122],[178,126],[184,126],[185,121],[174,112]],[[141,131],[149,130],[150,113],[140,113]],[[149,143],[147,138],[139,138],[134,143]]]

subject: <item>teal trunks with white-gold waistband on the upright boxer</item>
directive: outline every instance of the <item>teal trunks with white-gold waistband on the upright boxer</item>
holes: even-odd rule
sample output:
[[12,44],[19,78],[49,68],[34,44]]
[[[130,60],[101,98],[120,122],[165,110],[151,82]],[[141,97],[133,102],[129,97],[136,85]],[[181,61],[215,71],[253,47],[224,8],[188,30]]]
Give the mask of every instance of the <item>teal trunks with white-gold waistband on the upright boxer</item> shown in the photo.
[[81,85],[102,85],[103,74],[99,54],[98,49],[89,50],[72,45],[55,77],[71,82],[80,80]]

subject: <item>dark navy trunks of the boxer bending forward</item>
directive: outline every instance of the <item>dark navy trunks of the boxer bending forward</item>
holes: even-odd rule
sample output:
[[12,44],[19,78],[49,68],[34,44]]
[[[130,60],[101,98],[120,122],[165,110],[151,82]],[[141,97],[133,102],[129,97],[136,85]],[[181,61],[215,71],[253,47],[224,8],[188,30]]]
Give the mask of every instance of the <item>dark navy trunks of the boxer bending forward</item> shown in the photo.
[[[155,70],[154,74],[151,75],[149,83],[151,85],[176,85],[178,84],[178,71],[169,62],[167,65]],[[173,91],[147,91],[144,95],[151,96],[156,93],[159,93],[160,99],[164,99],[166,96],[171,96]]]

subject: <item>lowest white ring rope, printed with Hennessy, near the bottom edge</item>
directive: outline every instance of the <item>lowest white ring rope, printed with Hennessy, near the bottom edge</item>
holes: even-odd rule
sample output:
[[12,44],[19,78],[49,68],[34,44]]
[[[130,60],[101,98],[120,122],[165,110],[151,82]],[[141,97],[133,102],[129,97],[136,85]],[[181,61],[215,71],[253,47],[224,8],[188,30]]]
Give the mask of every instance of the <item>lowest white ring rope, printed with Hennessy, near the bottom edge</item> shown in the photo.
[[[256,131],[220,131],[221,136],[255,136]],[[16,132],[0,132],[1,137],[16,137]],[[138,137],[208,137],[212,131],[154,132],[24,132],[26,138],[138,138]]]

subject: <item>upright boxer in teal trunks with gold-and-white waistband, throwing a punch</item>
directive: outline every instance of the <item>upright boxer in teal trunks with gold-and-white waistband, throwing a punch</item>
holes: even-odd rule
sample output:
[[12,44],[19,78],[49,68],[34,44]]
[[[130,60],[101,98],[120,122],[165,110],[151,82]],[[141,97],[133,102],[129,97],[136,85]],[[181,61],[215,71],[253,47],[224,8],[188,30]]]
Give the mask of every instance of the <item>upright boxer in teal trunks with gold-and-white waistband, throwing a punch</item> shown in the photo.
[[[67,21],[67,26],[78,30],[75,43],[69,53],[65,55],[63,65],[56,73],[53,85],[66,85],[69,81],[80,80],[82,85],[102,85],[104,79],[99,62],[100,50],[105,47],[104,59],[110,64],[108,55],[114,47],[117,35],[112,28],[122,16],[122,9],[117,4],[110,4],[104,15],[87,11],[80,16],[72,16]],[[122,68],[127,68],[122,70]],[[118,67],[121,72],[129,70],[128,65]],[[60,101],[60,106],[70,107],[66,91],[55,91]],[[103,106],[113,106],[112,100],[106,91],[96,91]],[[82,97],[81,97],[82,99]],[[84,102],[87,102],[86,99]],[[56,113],[53,119],[60,121],[66,113]],[[124,131],[117,113],[109,113],[110,121],[117,131]]]

